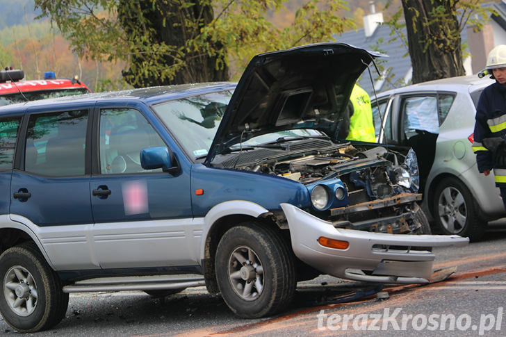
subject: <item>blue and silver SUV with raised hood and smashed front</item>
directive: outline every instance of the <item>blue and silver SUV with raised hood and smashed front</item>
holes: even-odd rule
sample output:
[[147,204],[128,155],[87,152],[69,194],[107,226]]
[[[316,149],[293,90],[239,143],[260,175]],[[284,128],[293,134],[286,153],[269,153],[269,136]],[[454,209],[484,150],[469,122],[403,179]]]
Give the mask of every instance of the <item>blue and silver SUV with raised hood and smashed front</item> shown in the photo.
[[430,248],[468,239],[429,234],[416,156],[336,138],[377,56],[313,44],[255,56],[238,83],[0,108],[4,320],[49,329],[76,292],[205,285],[259,318],[318,274],[427,282]]

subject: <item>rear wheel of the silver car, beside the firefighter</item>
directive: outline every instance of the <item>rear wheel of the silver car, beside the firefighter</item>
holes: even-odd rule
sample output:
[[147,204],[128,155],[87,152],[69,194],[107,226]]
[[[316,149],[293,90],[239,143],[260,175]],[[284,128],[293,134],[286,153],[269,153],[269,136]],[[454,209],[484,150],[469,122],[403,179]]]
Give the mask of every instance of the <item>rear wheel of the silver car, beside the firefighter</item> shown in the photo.
[[478,205],[464,183],[455,178],[443,179],[436,187],[432,210],[436,228],[443,234],[457,234],[480,240],[487,222],[478,217]]

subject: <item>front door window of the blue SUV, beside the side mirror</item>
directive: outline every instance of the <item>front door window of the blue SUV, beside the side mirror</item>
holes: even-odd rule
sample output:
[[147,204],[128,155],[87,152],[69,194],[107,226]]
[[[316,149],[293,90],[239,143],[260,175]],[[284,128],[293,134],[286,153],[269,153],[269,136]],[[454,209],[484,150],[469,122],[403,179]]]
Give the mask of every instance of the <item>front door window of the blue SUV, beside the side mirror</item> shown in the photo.
[[101,174],[143,172],[140,151],[167,146],[145,117],[131,108],[101,110],[99,137]]

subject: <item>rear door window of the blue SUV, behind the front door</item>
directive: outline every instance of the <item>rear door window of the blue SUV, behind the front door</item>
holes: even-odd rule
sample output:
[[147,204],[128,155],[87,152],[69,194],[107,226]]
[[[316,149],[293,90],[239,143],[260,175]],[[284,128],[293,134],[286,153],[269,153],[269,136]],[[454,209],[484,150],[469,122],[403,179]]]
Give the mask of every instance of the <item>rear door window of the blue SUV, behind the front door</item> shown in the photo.
[[85,174],[88,111],[31,115],[26,132],[25,170],[45,176]]

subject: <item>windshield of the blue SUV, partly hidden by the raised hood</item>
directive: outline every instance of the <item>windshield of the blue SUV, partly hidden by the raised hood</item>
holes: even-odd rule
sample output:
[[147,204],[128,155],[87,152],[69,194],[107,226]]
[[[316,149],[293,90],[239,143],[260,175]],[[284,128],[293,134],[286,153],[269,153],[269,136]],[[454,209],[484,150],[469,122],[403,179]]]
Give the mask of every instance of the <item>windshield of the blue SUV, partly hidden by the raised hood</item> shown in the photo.
[[[195,160],[209,152],[231,96],[231,91],[213,92],[156,104],[153,109],[179,145]],[[235,147],[251,147],[279,140],[322,135],[324,134],[316,130],[293,129],[259,135]]]

